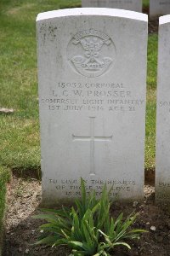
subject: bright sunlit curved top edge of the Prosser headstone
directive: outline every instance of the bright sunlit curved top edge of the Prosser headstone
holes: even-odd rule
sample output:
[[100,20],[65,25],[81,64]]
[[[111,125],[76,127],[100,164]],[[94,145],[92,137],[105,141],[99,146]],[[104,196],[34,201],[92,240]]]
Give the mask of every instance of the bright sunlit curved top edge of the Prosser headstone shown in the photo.
[[53,18],[60,18],[65,16],[82,16],[82,15],[92,15],[92,16],[111,16],[127,18],[132,20],[148,21],[148,15],[141,14],[134,11],[124,10],[124,9],[109,9],[109,8],[75,8],[75,9],[59,9],[40,13],[37,15],[37,20],[48,20]]

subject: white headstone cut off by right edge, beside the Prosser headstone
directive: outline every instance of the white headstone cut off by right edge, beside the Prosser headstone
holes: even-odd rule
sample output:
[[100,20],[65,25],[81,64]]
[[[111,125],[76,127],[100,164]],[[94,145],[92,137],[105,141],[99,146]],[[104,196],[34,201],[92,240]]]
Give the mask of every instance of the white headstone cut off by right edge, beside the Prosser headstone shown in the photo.
[[156,201],[170,201],[170,15],[160,18],[156,108]]

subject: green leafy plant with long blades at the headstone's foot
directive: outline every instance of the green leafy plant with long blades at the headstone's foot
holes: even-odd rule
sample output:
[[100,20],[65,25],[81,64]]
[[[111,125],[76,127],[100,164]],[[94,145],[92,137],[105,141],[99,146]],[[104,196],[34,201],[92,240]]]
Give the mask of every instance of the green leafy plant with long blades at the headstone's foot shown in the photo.
[[111,203],[106,185],[100,199],[96,199],[95,191],[88,196],[84,181],[81,179],[82,197],[76,200],[76,209],[62,207],[59,210],[44,209],[48,214],[40,214],[34,218],[42,218],[48,224],[42,224],[43,235],[36,244],[47,244],[52,247],[66,245],[71,247],[74,256],[110,255],[116,246],[131,248],[126,239],[139,238],[144,230],[130,230],[137,214],[123,220],[123,213],[118,218],[110,217]]

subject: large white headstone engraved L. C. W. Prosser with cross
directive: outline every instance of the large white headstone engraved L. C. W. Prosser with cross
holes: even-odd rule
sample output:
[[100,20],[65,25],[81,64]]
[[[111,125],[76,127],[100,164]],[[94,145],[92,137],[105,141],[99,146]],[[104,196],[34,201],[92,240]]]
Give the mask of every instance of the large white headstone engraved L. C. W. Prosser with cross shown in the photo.
[[37,16],[42,199],[144,190],[147,15],[63,9]]

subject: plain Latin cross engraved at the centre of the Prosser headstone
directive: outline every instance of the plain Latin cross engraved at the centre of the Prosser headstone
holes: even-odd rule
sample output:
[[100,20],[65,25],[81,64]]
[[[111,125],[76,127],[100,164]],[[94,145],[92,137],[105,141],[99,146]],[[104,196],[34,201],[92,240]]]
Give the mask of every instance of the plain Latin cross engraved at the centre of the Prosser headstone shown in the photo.
[[90,142],[90,175],[95,175],[94,164],[94,142],[110,142],[113,136],[109,137],[95,137],[94,136],[94,119],[95,117],[89,117],[90,119],[90,136],[76,136],[72,135],[73,141]]

